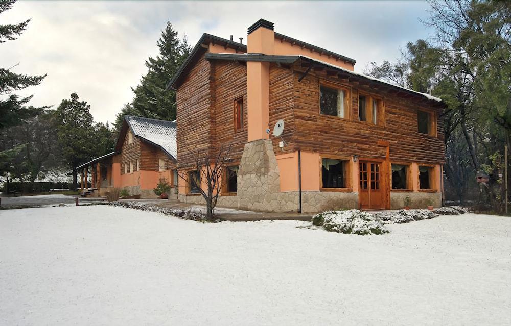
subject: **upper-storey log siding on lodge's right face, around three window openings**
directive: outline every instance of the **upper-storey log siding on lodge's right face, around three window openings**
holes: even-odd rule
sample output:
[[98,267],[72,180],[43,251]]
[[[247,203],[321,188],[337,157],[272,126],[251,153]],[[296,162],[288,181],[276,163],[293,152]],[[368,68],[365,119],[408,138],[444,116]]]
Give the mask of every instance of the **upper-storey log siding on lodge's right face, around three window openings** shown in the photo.
[[[378,140],[390,143],[390,159],[423,163],[444,162],[444,124],[439,118],[441,108],[413,99],[405,99],[388,92],[359,85],[353,81],[327,76],[311,70],[298,82],[302,72],[295,66],[294,116],[295,146],[303,151],[333,155],[379,158],[385,157],[385,148]],[[351,121],[319,114],[319,80],[341,83],[352,89]],[[359,91],[384,98],[386,126],[358,121]],[[417,109],[436,112],[438,137],[417,132]],[[286,123],[287,128],[287,123]]]

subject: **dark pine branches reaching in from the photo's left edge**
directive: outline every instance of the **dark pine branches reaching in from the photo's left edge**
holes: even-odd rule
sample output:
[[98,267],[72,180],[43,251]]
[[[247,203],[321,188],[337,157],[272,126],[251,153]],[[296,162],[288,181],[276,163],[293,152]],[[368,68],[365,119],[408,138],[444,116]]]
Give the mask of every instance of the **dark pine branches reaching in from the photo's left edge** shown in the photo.
[[[0,1],[0,13],[11,9],[16,0]],[[26,29],[30,19],[18,24],[0,25],[0,43],[15,40]],[[7,99],[0,100],[0,128],[16,126],[30,117],[41,114],[45,108],[26,106],[31,96],[19,97],[14,91],[38,85],[46,77],[28,76],[11,71],[10,68],[0,68],[0,95],[8,95]]]

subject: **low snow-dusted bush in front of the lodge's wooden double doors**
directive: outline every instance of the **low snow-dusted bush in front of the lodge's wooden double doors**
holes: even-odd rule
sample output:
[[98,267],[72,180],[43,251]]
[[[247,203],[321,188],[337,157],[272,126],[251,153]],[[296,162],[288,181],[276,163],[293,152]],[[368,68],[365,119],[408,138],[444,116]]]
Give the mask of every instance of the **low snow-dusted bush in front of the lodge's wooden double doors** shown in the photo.
[[312,223],[329,232],[353,233],[359,235],[390,233],[385,225],[373,214],[357,209],[348,211],[327,211],[312,217]]

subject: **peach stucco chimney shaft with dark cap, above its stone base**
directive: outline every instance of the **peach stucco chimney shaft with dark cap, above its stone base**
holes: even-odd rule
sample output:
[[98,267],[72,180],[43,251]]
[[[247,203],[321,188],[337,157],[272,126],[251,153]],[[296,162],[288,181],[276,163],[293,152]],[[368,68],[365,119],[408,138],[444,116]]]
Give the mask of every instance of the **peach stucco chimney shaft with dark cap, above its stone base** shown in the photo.
[[[275,32],[273,23],[259,19],[248,28],[247,53],[272,55]],[[268,139],[269,123],[269,62],[247,62],[248,141]]]

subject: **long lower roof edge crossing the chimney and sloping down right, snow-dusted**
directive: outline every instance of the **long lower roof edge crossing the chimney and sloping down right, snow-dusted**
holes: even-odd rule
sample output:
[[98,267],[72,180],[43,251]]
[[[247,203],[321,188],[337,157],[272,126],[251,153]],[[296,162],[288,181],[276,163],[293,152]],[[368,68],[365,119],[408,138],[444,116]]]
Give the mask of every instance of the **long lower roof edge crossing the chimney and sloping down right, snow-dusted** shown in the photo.
[[414,91],[412,89],[408,89],[408,88],[405,88],[405,87],[402,87],[402,86],[399,86],[399,85],[396,85],[396,84],[392,84],[392,83],[383,81],[381,79],[377,79],[377,78],[374,78],[374,77],[366,76],[363,73],[359,73],[359,72],[351,71],[351,70],[348,70],[348,69],[344,69],[342,67],[339,67],[339,66],[336,66],[336,65],[333,65],[333,64],[321,61],[321,60],[313,59],[313,58],[310,58],[310,57],[307,57],[307,56],[302,56],[302,55],[278,55],[278,56],[273,56],[273,55],[244,54],[244,53],[241,53],[241,54],[234,54],[234,53],[207,53],[205,57],[206,57],[207,60],[265,61],[265,62],[277,62],[277,63],[288,63],[288,64],[289,63],[294,63],[297,60],[302,60],[302,61],[305,61],[306,63],[308,63],[310,68],[312,68],[313,66],[316,66],[316,67],[317,66],[322,66],[322,67],[325,67],[325,68],[328,68],[328,69],[334,69],[334,70],[338,71],[340,74],[344,74],[344,76],[351,75],[351,76],[353,76],[353,77],[355,77],[355,78],[357,78],[359,80],[367,80],[367,81],[370,81],[370,82],[374,82],[376,84],[388,86],[389,88],[394,88],[394,89],[397,89],[397,90],[401,90],[401,91],[403,91],[405,93],[409,93],[409,94],[413,94],[413,95],[420,95],[420,96],[423,96],[424,98],[426,98],[428,100],[431,100],[431,101],[442,102],[442,99],[440,99],[438,97],[431,96],[431,95],[426,94],[426,93],[417,92],[417,91]]

